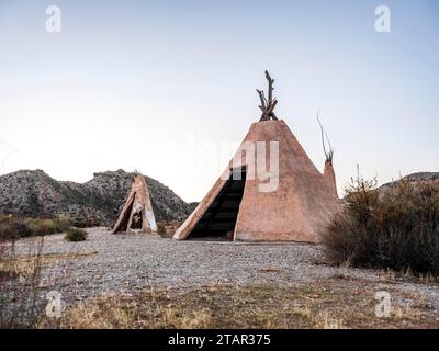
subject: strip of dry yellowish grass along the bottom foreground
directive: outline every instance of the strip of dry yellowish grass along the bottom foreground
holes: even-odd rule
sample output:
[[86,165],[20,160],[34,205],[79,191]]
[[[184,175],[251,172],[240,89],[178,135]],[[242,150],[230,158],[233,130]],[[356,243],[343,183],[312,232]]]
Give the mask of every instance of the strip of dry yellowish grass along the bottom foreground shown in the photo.
[[[439,316],[418,297],[394,298],[389,318],[375,316],[374,286],[326,280],[295,286],[211,284],[199,288],[149,288],[134,295],[111,295],[68,308],[58,328],[423,328]],[[402,305],[410,298],[417,305]],[[47,326],[47,325],[45,325]]]

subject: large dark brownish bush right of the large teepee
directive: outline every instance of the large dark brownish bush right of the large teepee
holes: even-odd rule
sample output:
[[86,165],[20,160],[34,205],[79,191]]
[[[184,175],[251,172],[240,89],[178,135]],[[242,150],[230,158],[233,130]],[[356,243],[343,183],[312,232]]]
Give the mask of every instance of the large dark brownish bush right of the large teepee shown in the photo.
[[439,274],[439,186],[352,180],[345,210],[323,237],[334,263]]

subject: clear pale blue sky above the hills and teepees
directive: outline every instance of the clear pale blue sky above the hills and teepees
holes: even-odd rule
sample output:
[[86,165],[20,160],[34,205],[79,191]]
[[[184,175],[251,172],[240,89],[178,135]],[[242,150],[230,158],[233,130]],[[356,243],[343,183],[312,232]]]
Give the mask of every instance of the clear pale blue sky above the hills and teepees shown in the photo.
[[258,120],[266,69],[322,170],[320,110],[340,189],[357,163],[381,183],[439,171],[438,1],[0,0],[0,174],[137,169],[200,201]]

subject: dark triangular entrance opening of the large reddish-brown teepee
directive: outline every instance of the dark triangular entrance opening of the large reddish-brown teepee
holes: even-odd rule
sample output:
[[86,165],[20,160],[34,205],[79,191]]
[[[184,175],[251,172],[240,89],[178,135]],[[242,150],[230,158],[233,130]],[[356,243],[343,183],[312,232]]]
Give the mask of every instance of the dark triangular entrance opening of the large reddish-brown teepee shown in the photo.
[[189,239],[233,240],[245,185],[246,169],[234,169],[223,189],[189,234]]

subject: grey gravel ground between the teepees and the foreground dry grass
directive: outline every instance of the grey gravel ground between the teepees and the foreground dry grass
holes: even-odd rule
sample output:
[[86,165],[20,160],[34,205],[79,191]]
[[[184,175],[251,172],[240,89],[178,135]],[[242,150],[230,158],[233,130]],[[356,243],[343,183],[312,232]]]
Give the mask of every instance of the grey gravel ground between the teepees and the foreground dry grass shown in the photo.
[[[325,279],[358,280],[421,294],[439,309],[439,284],[391,279],[383,271],[325,265],[322,247],[305,244],[175,241],[159,236],[111,235],[88,229],[82,242],[63,235],[45,237],[44,254],[63,259],[45,265],[43,285],[68,301],[105,293],[130,293],[149,286],[196,287],[214,282],[294,285]],[[25,254],[30,239],[19,242]],[[68,257],[64,256],[67,254]]]

